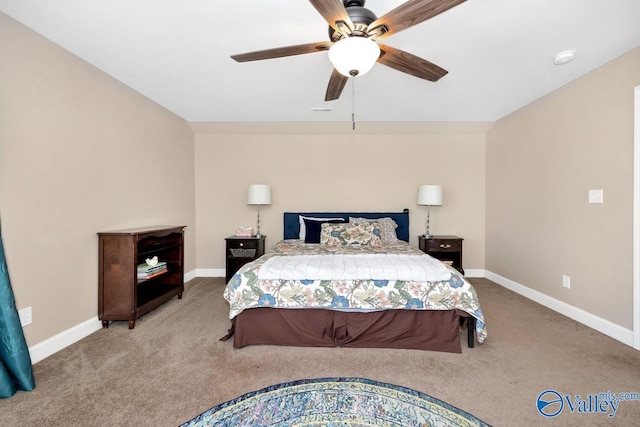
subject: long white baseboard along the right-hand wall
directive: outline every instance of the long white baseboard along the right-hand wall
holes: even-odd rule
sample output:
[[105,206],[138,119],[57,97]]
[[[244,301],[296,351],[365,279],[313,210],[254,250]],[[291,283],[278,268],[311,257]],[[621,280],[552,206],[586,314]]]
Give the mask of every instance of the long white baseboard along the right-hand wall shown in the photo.
[[574,307],[566,302],[550,297],[549,295],[528,288],[520,283],[514,282],[513,280],[507,279],[506,277],[502,277],[490,271],[485,271],[484,277],[499,284],[500,286],[522,295],[525,298],[535,301],[538,304],[542,304],[555,312],[565,315],[585,326],[618,340],[623,344],[633,347],[634,336],[633,331],[630,329],[623,328],[609,320],[598,317],[581,308]]

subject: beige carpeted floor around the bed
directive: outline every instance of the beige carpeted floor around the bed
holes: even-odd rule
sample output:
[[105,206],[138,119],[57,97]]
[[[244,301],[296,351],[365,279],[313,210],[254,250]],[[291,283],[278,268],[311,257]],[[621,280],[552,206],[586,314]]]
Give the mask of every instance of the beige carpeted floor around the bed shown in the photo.
[[[545,419],[541,392],[583,398],[640,392],[640,352],[485,279],[471,280],[489,331],[462,354],[419,350],[234,349],[224,279],[195,279],[136,322],[112,324],[37,363],[36,389],[0,400],[2,426],[178,426],[222,402],[305,378],[360,377],[443,400],[494,426],[636,425],[640,401],[615,417]],[[464,339],[464,338],[463,338]]]

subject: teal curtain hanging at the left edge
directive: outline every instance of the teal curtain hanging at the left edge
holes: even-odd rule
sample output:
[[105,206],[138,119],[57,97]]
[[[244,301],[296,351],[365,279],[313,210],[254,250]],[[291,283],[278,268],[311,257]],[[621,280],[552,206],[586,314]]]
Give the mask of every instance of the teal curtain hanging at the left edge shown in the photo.
[[0,398],[36,386],[29,348],[11,289],[0,228]]

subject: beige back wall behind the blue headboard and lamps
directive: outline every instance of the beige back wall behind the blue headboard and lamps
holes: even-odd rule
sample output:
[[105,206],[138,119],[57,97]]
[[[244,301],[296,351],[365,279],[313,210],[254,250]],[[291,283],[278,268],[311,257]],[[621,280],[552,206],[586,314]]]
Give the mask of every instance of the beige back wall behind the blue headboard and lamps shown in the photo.
[[[462,127],[462,125],[461,125]],[[465,269],[484,268],[484,131],[470,134],[363,135],[345,126],[331,135],[196,132],[197,265],[224,268],[224,238],[255,228],[250,184],[269,184],[261,209],[267,246],[282,239],[285,211],[401,211],[409,208],[411,243],[424,233],[420,184],[441,184],[444,205],[431,209],[432,233],[464,240]]]

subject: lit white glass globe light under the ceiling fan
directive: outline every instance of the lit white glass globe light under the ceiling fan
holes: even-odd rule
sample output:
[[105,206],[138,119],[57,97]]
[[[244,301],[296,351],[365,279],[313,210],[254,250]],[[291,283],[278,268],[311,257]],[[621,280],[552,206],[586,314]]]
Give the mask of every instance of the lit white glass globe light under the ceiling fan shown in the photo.
[[366,74],[379,57],[378,43],[360,36],[339,40],[329,49],[329,61],[347,77]]

